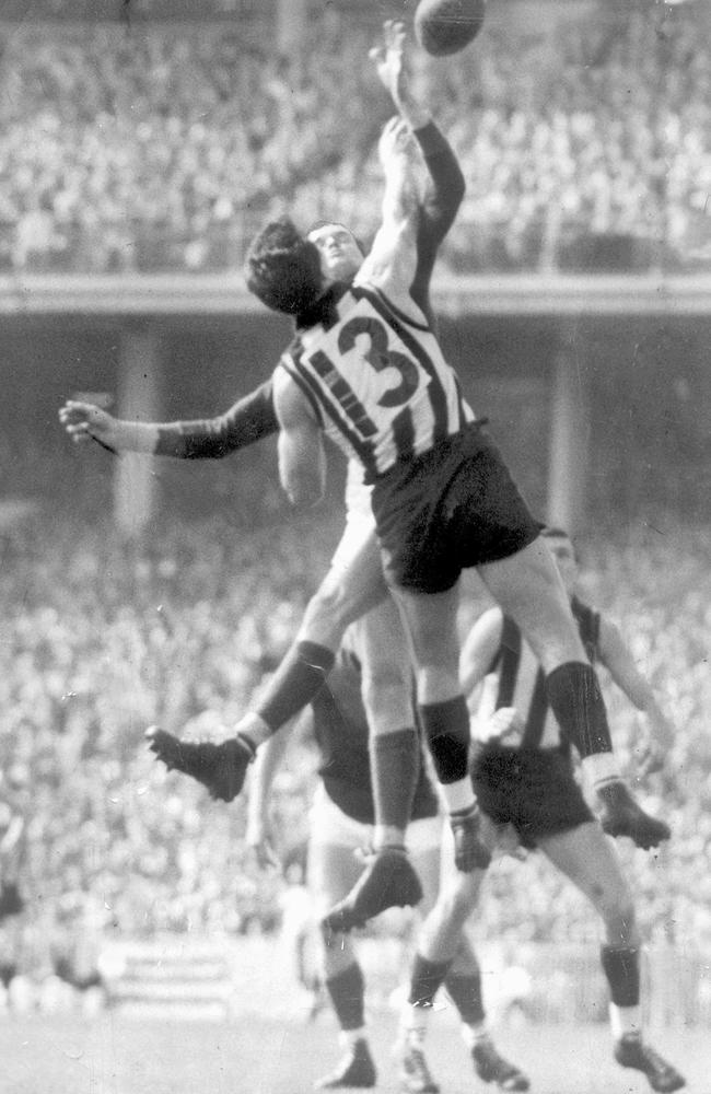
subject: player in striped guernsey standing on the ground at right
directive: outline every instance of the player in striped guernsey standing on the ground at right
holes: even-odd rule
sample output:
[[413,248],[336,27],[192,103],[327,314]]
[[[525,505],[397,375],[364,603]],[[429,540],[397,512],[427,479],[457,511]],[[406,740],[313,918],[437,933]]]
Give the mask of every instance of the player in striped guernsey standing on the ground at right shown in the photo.
[[[656,741],[653,745],[645,742],[644,749],[653,759],[657,745],[668,741],[671,728],[615,625],[574,595],[576,571],[570,539],[560,529],[550,529],[547,537],[572,597],[583,642],[649,715]],[[489,609],[471,628],[463,645],[461,672],[474,714],[473,781],[483,816],[497,827],[513,826],[525,848],[541,851],[591,901],[605,928],[601,962],[609,987],[615,1059],[642,1071],[655,1091],[679,1090],[683,1076],[642,1038],[641,943],[619,859],[575,781],[571,757],[575,742],[546,701],[535,654],[501,608]],[[420,933],[400,1041],[403,1069],[419,1071],[420,1080],[416,1086],[404,1084],[405,1092],[430,1089],[426,1085],[431,1082],[424,1057],[427,1020],[464,924],[478,904],[480,876],[477,872],[451,874]]]

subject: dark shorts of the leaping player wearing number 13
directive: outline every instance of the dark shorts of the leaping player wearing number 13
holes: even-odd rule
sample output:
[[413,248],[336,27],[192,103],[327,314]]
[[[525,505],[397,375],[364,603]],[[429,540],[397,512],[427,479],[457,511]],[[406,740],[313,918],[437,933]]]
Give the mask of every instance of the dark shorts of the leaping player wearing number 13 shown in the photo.
[[476,423],[382,475],[372,505],[388,582],[419,593],[446,592],[463,570],[515,555],[541,528]]

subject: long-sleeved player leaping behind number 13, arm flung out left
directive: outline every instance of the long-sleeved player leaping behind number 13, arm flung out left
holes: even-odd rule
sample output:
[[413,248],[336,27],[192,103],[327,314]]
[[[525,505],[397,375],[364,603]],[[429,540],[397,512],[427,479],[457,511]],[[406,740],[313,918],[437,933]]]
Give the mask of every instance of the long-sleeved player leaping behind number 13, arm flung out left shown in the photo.
[[[404,98],[409,96],[405,85],[401,94]],[[431,121],[427,120],[417,130],[417,139],[422,152],[423,171],[419,195],[418,261],[412,294],[431,316],[429,287],[432,268],[440,243],[462,200],[464,181],[448,143]],[[310,235],[312,240],[318,240],[324,251],[329,253],[333,267],[339,276],[347,277],[349,271],[352,276],[361,265],[363,254],[360,245],[342,225],[322,222],[313,228]],[[293,261],[288,253],[291,248],[292,257],[295,258],[302,255],[304,247],[294,240],[293,231],[284,224],[275,225],[273,231],[266,234],[264,242],[271,261],[281,264],[284,279],[291,284],[287,296],[279,295],[277,289],[277,295],[269,299],[288,309],[301,306],[304,284],[308,277],[313,279],[315,266],[310,266],[306,260],[304,279],[293,280]],[[318,254],[310,248],[305,249],[312,257]],[[317,265],[320,278],[320,258]],[[260,259],[256,255],[253,256],[252,268],[255,276],[258,276]],[[69,400],[60,410],[60,420],[75,441],[93,439],[116,452],[140,451],[182,458],[224,456],[278,430],[271,381],[241,399],[225,415],[214,419],[172,423],[128,422],[113,418],[86,403]],[[322,620],[333,615],[334,624],[329,622],[328,626],[334,627],[334,636],[336,632],[338,635],[331,638],[318,622],[314,628],[306,618],[294,643],[298,652],[287,659],[287,678],[289,665],[295,661],[299,668],[302,665],[301,659],[304,657],[308,694],[304,694],[303,680],[298,680],[295,691],[289,693],[285,699],[273,705],[268,698],[275,690],[272,686],[264,706],[264,714],[269,720],[270,729],[263,737],[267,737],[271,730],[277,730],[291,714],[295,714],[323,683],[325,668],[329,667],[324,665],[322,668],[320,665],[324,660],[324,643],[337,649],[340,632],[345,629],[345,624],[341,626],[341,610],[346,609],[349,617],[356,618],[362,615],[365,607],[378,604],[387,596],[374,537],[370,489],[363,485],[362,474],[353,463],[349,468],[346,500],[346,532],[322,586],[322,590],[326,590],[327,597],[326,602],[322,601],[326,608]],[[334,604],[334,600],[338,601],[338,606]],[[329,606],[336,609],[329,613]],[[391,900],[415,904],[420,896],[419,882],[400,850],[415,792],[418,763],[412,722],[411,668],[401,641],[401,631],[397,632],[393,641],[381,644],[377,656],[370,656],[366,641],[369,628],[370,622],[365,618],[362,687],[372,732],[376,814],[374,845],[384,853],[387,849],[386,859],[382,860],[382,864],[387,865],[387,870],[383,872],[385,887],[378,899],[384,907]],[[377,635],[374,638],[377,641]],[[333,661],[333,655],[330,660]],[[259,712],[263,712],[261,706]],[[255,734],[254,744],[263,737]],[[205,782],[214,796],[228,801],[237,793],[244,775],[244,771],[240,773],[240,767],[246,767],[246,759],[254,750],[245,753],[233,742],[226,742],[223,746],[208,742],[195,745],[187,742],[180,743],[176,754],[172,747],[175,738],[171,738],[168,734],[156,731],[151,740],[154,749],[166,758],[170,766],[188,770]],[[241,736],[240,742],[243,741],[248,742],[249,737]],[[374,915],[376,910],[371,904],[368,913]]]

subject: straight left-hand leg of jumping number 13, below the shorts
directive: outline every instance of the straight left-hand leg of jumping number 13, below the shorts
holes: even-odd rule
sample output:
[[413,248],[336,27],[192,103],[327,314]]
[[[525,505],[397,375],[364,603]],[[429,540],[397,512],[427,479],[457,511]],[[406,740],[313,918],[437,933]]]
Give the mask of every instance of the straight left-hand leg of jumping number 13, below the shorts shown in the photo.
[[447,804],[459,870],[489,864],[468,771],[469,712],[459,684],[458,582],[445,592],[394,586],[416,668],[418,712]]

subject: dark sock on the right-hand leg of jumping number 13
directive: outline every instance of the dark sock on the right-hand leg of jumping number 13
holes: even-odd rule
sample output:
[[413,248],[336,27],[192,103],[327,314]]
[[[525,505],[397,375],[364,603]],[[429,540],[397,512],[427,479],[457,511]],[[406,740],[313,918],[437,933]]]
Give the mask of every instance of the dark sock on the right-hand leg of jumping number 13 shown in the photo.
[[546,677],[546,694],[564,736],[582,759],[613,750],[607,712],[592,665],[568,661]]

